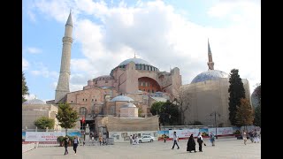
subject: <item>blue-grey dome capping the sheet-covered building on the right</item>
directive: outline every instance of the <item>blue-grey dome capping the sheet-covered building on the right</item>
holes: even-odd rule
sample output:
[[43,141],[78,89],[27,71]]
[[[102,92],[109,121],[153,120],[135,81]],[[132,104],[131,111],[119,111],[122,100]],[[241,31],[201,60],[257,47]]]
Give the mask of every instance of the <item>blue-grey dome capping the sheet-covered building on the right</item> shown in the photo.
[[218,80],[220,78],[229,78],[229,74],[226,72],[221,72],[218,70],[209,70],[207,72],[202,72],[198,74],[191,83],[202,82],[206,80]]

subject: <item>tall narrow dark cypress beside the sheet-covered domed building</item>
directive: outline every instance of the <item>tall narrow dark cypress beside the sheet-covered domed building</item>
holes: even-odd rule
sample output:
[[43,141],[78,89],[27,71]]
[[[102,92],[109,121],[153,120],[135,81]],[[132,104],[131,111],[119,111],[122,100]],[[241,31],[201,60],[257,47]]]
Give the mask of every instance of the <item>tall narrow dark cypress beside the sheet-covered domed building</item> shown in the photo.
[[241,105],[241,98],[245,98],[245,88],[241,81],[240,75],[237,69],[233,69],[230,72],[229,79],[229,120],[231,125],[237,125],[236,123],[236,113],[237,106]]

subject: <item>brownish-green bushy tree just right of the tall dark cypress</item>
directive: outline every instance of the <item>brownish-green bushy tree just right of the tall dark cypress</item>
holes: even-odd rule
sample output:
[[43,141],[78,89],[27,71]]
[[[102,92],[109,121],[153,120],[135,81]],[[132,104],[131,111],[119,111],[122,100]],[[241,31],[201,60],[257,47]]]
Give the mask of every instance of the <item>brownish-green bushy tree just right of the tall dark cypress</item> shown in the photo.
[[241,105],[237,106],[236,126],[252,125],[254,122],[254,110],[249,104],[249,100],[241,98]]

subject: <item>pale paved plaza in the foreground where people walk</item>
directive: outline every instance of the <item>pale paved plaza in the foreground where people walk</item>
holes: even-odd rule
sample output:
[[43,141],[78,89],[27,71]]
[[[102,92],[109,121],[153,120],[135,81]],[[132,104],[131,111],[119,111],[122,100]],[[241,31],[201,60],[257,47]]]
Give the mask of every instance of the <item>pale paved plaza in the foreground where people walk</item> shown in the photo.
[[[195,140],[196,141],[196,140]],[[64,147],[51,148],[35,148],[22,154],[23,159],[59,159],[59,158],[80,158],[80,159],[172,159],[172,158],[261,158],[261,143],[251,143],[247,141],[244,145],[243,140],[236,140],[236,138],[216,140],[216,146],[212,147],[210,141],[204,139],[206,147],[203,146],[203,152],[186,151],[187,140],[180,140],[180,149],[172,150],[172,140],[154,141],[149,143],[141,143],[139,145],[130,145],[129,143],[115,143],[107,146],[79,146],[77,155],[74,155],[73,147],[69,147],[68,155],[64,155]],[[198,144],[196,143],[196,150],[198,151]]]

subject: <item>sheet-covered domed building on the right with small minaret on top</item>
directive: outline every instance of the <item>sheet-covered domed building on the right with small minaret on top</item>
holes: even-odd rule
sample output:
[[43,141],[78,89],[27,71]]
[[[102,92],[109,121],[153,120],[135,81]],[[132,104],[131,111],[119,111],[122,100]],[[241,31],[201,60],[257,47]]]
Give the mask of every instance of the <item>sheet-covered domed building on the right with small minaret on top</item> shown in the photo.
[[[198,74],[190,84],[183,85],[191,95],[190,111],[185,112],[184,125],[200,121],[203,125],[231,126],[229,121],[229,74],[214,70],[210,43],[208,42],[209,70]],[[249,81],[241,79],[249,99]]]

